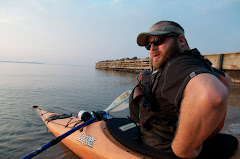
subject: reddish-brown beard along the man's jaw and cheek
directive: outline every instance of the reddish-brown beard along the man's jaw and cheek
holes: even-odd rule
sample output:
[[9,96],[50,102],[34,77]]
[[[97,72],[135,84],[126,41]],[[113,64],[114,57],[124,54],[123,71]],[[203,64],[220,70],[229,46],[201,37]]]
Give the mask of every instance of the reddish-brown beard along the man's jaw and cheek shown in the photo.
[[183,52],[176,38],[174,38],[171,45],[172,46],[169,47],[168,50],[166,50],[165,54],[162,54],[160,61],[154,61],[153,57],[150,58],[152,65],[155,69],[164,67],[172,58]]

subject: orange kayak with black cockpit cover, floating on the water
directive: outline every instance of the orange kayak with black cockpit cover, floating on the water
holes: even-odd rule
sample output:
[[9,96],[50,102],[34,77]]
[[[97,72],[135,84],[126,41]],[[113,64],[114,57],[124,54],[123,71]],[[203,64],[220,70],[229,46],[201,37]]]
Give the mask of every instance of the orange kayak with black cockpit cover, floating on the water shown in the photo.
[[[83,123],[80,118],[72,115],[48,112],[38,106],[33,108],[55,136],[60,136]],[[112,118],[95,121],[75,131],[61,142],[83,159],[177,158],[172,153],[155,150],[139,141],[138,134],[138,125],[131,120]],[[239,159],[239,154],[238,148],[231,159]]]

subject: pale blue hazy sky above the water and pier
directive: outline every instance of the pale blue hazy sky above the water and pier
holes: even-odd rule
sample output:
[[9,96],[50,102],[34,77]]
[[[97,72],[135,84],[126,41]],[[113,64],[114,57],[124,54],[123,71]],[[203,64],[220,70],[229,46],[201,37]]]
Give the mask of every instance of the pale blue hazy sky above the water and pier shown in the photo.
[[239,52],[240,0],[0,0],[0,61],[89,65],[146,58],[136,38],[158,21],[202,54]]

